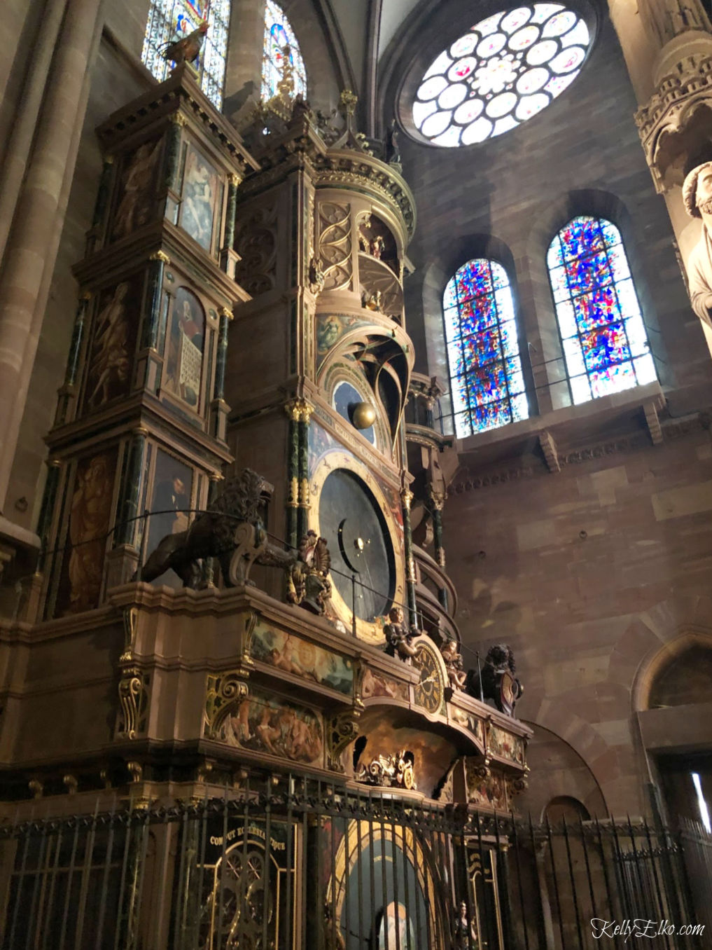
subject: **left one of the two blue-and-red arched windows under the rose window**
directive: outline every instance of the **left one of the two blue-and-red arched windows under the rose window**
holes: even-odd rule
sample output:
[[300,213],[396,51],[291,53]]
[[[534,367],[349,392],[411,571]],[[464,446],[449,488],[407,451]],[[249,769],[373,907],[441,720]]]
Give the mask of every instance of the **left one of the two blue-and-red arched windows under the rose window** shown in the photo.
[[459,438],[529,416],[509,277],[480,257],[459,268],[442,299]]

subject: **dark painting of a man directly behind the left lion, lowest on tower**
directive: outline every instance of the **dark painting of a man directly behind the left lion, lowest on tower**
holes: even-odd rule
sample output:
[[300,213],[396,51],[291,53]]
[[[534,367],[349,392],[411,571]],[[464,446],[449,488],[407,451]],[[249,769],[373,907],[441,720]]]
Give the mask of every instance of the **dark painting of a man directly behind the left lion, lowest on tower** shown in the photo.
[[[146,555],[155,551],[167,535],[176,535],[187,529],[192,490],[193,469],[159,449],[150,495]],[[178,575],[169,571],[161,576],[160,582],[178,586]]]

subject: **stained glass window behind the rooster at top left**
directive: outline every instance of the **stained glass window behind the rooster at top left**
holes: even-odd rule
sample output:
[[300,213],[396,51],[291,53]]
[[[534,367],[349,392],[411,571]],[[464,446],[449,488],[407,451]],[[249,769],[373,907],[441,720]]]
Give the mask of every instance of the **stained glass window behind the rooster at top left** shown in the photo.
[[175,64],[166,63],[161,50],[208,21],[202,48],[193,63],[200,87],[215,108],[222,107],[225,55],[228,48],[231,0],[151,0],[141,60],[162,82]]

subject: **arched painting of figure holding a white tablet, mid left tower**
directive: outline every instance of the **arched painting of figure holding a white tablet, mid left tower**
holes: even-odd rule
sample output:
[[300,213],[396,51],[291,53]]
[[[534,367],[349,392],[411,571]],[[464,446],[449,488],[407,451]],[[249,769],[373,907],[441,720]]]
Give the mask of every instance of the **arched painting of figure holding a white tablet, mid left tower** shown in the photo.
[[168,329],[163,364],[164,390],[197,412],[200,404],[205,311],[197,296],[178,287]]

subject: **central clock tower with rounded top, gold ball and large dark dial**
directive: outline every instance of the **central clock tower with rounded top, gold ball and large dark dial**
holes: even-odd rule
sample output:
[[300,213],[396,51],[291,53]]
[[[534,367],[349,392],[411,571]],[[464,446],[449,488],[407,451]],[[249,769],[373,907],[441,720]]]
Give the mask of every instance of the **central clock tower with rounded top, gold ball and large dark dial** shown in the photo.
[[[328,541],[334,618],[369,643],[403,604],[415,622],[403,408],[413,347],[403,271],[415,226],[398,171],[307,108],[264,136],[240,192],[228,442],[275,486],[270,529]],[[276,592],[275,592],[276,593]]]

